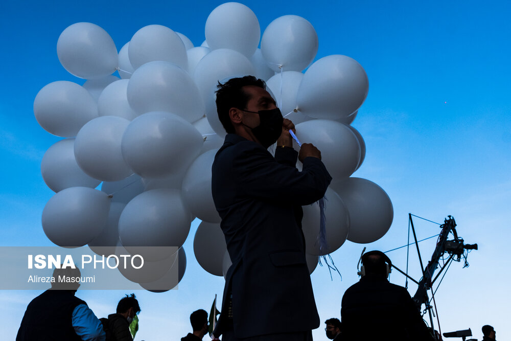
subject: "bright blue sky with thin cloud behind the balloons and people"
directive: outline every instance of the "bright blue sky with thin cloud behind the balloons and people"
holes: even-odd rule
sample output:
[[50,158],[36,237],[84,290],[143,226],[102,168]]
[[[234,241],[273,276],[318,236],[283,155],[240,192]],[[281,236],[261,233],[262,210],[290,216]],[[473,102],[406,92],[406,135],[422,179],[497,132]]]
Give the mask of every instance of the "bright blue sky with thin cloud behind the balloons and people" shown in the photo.
[[[118,49],[140,28],[160,24],[204,40],[208,14],[222,2],[3,2],[0,5],[2,90],[0,91],[0,245],[50,245],[40,216],[53,195],[40,175],[44,151],[59,138],[45,132],[33,114],[35,95],[69,75],[56,54],[59,34],[89,21],[103,27]],[[458,234],[479,251],[470,267],[454,263],[436,294],[442,331],[491,324],[498,339],[509,309],[508,249],[511,220],[511,52],[509,2],[409,1],[245,1],[258,16],[261,32],[285,14],[308,19],[319,36],[317,58],[355,58],[369,77],[369,94],[353,126],[365,139],[367,154],[354,176],[379,184],[394,205],[388,234],[366,245],[387,251],[407,241],[408,213],[442,222],[453,215]],[[188,267],[178,290],[136,292],[140,300],[138,340],[179,339],[191,330],[189,314],[209,311],[224,280],[207,274],[193,255],[193,224],[184,244]],[[419,238],[439,232],[416,221]],[[421,243],[424,260],[434,240]],[[358,280],[356,264],[364,245],[346,242],[332,257],[342,281],[325,268],[312,275],[321,322],[339,317],[344,290]],[[388,254],[401,268],[406,248]],[[419,265],[410,249],[410,273]],[[404,284],[403,276],[391,282]],[[413,294],[416,287],[410,283]],[[2,339],[13,340],[26,305],[39,292],[0,291]],[[113,312],[124,292],[78,291],[98,317]],[[326,339],[324,324],[313,332]],[[393,332],[389,326],[389,331]],[[204,338],[207,339],[207,336]]]

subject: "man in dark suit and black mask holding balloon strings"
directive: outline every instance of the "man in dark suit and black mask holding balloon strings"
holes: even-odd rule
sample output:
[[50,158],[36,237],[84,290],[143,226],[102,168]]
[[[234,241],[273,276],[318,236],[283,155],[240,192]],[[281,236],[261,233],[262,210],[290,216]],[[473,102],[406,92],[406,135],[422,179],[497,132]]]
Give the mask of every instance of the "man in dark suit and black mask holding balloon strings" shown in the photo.
[[[213,163],[212,193],[233,261],[214,332],[223,341],[312,340],[319,326],[301,206],[322,198],[332,178],[316,147],[292,148],[294,125],[265,87],[245,76],[217,91],[227,135]],[[275,142],[272,156],[267,148]]]

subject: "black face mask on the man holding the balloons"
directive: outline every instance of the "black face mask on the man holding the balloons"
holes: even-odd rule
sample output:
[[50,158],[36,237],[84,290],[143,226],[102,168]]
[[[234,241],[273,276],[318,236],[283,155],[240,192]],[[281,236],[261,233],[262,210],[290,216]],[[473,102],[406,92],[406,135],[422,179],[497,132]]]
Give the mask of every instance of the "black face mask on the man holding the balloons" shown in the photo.
[[252,130],[255,138],[261,142],[263,147],[268,148],[277,141],[282,134],[282,124],[284,123],[281,109],[275,108],[270,110],[259,110],[258,112],[248,110],[243,111],[259,114],[260,123],[257,127],[250,128],[249,126],[242,124]]

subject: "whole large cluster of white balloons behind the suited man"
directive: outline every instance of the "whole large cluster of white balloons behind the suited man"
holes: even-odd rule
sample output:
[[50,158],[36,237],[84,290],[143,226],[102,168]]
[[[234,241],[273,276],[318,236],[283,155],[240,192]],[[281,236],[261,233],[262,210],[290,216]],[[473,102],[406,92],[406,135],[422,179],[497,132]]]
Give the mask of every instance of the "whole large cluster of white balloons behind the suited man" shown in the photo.
[[[205,38],[194,47],[181,33],[149,25],[118,53],[95,24],[79,22],[62,32],[58,58],[86,81],[50,83],[34,101],[39,124],[65,138],[41,163],[45,183],[56,192],[42,214],[48,238],[64,247],[110,247],[112,254],[137,246],[180,247],[197,217],[202,223],[194,239],[196,259],[222,276],[230,260],[211,194],[211,165],[225,131],[214,92],[219,81],[243,75],[266,80],[301,142],[321,150],[334,178],[326,194],[328,253],[346,238],[381,238],[392,222],[390,199],[371,181],[350,177],[365,156],[364,141],[350,126],[368,92],[362,66],[343,55],[310,65],[318,37],[309,21],[278,17],[261,38],[257,17],[239,3],[211,12]],[[121,78],[112,75],[116,71]],[[319,221],[317,205],[304,207],[311,272],[326,253],[316,242]],[[182,248],[180,253],[182,278],[186,258]],[[175,255],[148,257],[153,268],[161,268],[159,278],[123,275],[168,289]]]

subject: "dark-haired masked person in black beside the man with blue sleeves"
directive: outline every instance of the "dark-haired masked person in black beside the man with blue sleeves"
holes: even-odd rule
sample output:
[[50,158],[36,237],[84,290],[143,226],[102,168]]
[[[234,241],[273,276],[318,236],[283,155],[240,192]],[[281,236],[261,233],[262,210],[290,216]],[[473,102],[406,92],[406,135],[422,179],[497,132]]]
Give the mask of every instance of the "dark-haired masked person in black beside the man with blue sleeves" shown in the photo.
[[135,294],[126,295],[117,304],[117,312],[108,315],[107,340],[106,341],[133,341],[129,325],[136,314],[140,312],[140,306]]

